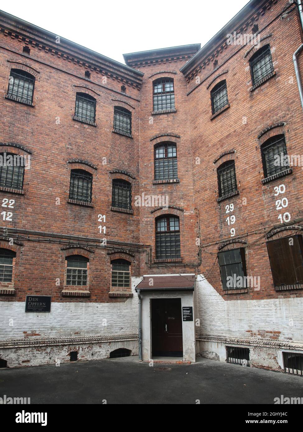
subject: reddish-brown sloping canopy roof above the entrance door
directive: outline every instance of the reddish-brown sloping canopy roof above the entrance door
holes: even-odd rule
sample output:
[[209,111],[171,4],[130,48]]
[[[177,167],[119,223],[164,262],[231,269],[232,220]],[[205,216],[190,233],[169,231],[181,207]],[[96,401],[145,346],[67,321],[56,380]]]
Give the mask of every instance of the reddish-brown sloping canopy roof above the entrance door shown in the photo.
[[143,280],[135,288],[136,291],[138,291],[138,289],[142,289],[144,291],[194,291],[195,274],[143,276]]

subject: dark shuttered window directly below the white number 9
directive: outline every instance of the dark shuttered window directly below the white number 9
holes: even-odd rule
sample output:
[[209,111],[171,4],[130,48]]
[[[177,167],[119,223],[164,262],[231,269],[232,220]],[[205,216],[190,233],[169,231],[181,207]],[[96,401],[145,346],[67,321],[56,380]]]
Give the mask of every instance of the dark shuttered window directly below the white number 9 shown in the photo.
[[246,261],[244,248],[218,254],[223,290],[246,288]]

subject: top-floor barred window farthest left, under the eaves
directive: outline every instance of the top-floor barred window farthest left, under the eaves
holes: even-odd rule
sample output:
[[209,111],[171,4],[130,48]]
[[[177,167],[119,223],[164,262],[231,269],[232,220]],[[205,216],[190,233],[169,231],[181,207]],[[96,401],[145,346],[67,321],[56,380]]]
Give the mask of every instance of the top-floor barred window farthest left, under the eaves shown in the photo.
[[25,70],[11,69],[7,94],[27,102],[32,102],[35,77]]

